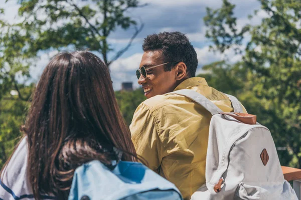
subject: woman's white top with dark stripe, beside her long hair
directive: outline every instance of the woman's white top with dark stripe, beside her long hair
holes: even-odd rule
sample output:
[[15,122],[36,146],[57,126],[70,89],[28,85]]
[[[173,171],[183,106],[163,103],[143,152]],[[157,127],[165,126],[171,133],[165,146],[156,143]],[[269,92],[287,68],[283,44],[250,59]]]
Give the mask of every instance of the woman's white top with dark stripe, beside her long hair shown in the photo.
[[[7,167],[1,174],[0,200],[32,200],[33,190],[28,180],[27,171],[28,145],[27,136],[22,139]],[[43,199],[56,199],[42,195]]]

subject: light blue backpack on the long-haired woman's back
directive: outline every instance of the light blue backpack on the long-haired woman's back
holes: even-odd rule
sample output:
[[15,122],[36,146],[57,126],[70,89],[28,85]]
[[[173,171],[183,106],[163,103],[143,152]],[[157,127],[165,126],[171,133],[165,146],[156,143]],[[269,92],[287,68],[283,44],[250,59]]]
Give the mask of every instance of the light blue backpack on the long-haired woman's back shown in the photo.
[[113,169],[98,160],[79,166],[68,200],[183,200],[178,188],[139,162],[119,161]]

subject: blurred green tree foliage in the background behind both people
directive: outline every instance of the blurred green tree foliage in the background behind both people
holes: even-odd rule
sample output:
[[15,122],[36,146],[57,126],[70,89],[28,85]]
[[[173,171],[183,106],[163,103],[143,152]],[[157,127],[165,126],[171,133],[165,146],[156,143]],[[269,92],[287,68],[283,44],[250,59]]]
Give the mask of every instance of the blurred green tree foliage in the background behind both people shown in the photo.
[[[242,28],[237,28],[235,4],[229,0],[221,0],[218,9],[207,8],[204,21],[211,50],[232,49],[242,58],[235,63],[225,59],[205,65],[198,76],[205,77],[210,86],[235,95],[249,113],[257,115],[258,122],[271,130],[281,164],[301,168],[301,1],[259,1],[269,16],[259,25],[249,23]],[[40,50],[61,50],[70,45],[76,49],[89,48],[101,53],[109,67],[143,27],[143,23],[138,24],[124,14],[130,7],[144,6],[138,0],[100,0],[97,9],[79,7],[72,0],[19,2],[19,14],[25,16],[23,22],[9,24],[0,18],[0,167],[21,135],[20,126],[35,87],[35,83],[28,83],[29,67]],[[49,17],[40,19],[37,10],[43,10]],[[254,10],[249,16],[250,22],[257,12]],[[0,14],[5,14],[5,10],[0,9]],[[97,14],[106,17],[90,23]],[[54,28],[53,24],[60,19],[68,23]],[[116,27],[136,30],[128,45],[119,50],[112,49],[107,41]],[[113,50],[116,55],[108,60],[107,53]],[[135,108],[145,99],[143,91],[139,88],[115,93],[129,125]]]

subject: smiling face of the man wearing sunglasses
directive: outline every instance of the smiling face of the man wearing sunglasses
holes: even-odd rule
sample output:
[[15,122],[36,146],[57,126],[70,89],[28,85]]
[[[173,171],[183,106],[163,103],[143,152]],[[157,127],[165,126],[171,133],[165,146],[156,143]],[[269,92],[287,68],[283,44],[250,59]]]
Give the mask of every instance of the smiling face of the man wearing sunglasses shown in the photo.
[[171,92],[177,86],[177,72],[175,70],[175,67],[173,67],[171,71],[164,71],[165,65],[147,70],[148,67],[162,63],[165,63],[162,55],[162,50],[146,51],[142,55],[140,67],[145,67],[147,78],[144,78],[142,75],[140,75],[138,83],[142,85],[144,95],[147,98],[156,96],[158,94]]

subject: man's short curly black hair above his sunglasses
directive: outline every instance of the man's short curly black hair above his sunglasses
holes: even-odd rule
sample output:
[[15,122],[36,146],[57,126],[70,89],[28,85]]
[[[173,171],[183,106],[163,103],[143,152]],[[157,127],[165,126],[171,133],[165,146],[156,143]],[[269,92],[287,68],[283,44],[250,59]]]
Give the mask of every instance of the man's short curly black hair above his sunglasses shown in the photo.
[[[197,52],[184,33],[175,31],[147,35],[144,38],[142,49],[144,52],[162,49],[165,62],[184,62],[187,66],[186,73],[190,77],[196,76]],[[172,64],[166,64],[164,70],[170,71],[172,66]]]

